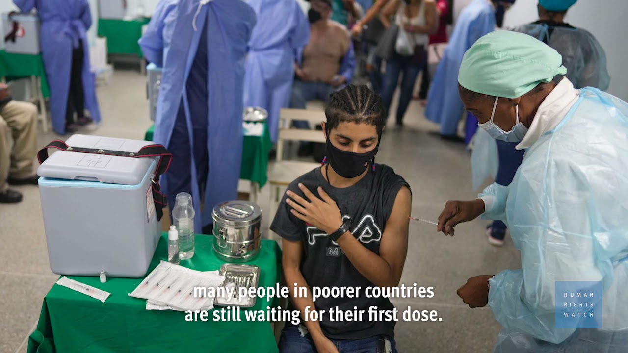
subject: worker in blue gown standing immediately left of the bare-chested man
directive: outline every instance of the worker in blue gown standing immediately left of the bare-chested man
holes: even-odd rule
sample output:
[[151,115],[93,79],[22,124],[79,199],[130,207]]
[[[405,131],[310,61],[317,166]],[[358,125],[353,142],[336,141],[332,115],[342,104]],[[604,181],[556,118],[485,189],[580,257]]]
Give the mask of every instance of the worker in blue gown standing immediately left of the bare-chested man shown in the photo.
[[310,24],[295,0],[247,0],[257,14],[244,76],[244,107],[268,111],[275,143],[279,111],[288,107],[295,77],[295,55],[310,40]]

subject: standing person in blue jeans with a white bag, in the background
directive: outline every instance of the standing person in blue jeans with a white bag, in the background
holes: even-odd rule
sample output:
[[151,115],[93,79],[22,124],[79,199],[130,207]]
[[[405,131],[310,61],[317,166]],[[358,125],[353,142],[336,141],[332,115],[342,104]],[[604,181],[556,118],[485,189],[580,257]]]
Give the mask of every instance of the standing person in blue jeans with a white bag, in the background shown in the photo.
[[399,74],[401,79],[401,93],[397,106],[396,124],[403,125],[403,116],[406,114],[416,77],[423,68],[425,62],[425,47],[428,43],[428,35],[434,33],[438,26],[438,13],[434,0],[394,0],[388,3],[382,11],[380,19],[384,26],[391,26],[391,18],[399,26],[399,35],[408,37],[409,45],[413,48],[410,55],[401,55],[396,48],[393,57],[386,61],[386,72],[382,83],[382,101],[386,107],[386,116],[393,102],[394,91],[397,89]]

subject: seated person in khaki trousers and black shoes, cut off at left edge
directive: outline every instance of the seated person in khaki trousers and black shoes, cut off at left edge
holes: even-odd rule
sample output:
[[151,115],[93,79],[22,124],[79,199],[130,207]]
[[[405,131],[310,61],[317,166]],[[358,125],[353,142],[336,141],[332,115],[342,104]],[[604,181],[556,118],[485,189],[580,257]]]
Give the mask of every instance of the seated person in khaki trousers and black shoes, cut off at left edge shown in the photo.
[[[10,185],[38,185],[33,173],[37,155],[37,107],[11,99],[9,86],[0,84],[0,204],[16,204],[22,194]],[[9,133],[13,148],[9,146]]]

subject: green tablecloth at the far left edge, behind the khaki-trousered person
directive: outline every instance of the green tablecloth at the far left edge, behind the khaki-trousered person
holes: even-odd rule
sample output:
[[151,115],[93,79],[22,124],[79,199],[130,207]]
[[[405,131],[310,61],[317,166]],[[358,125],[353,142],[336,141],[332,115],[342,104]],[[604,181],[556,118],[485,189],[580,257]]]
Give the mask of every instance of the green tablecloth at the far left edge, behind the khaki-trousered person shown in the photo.
[[5,77],[11,81],[30,76],[41,79],[41,94],[46,98],[50,97],[50,87],[48,87],[41,54],[13,54],[0,50],[0,77]]

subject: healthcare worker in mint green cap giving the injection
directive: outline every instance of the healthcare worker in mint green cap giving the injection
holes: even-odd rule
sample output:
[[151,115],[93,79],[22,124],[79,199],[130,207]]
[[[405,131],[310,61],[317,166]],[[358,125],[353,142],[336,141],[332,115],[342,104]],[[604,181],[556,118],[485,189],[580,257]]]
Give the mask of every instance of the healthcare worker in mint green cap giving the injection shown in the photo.
[[510,185],[450,200],[438,217],[451,236],[480,215],[503,220],[521,252],[520,268],[457,291],[502,325],[494,353],[628,351],[628,103],[565,73],[560,53],[512,31],[480,38],[460,65],[465,109],[526,149]]

